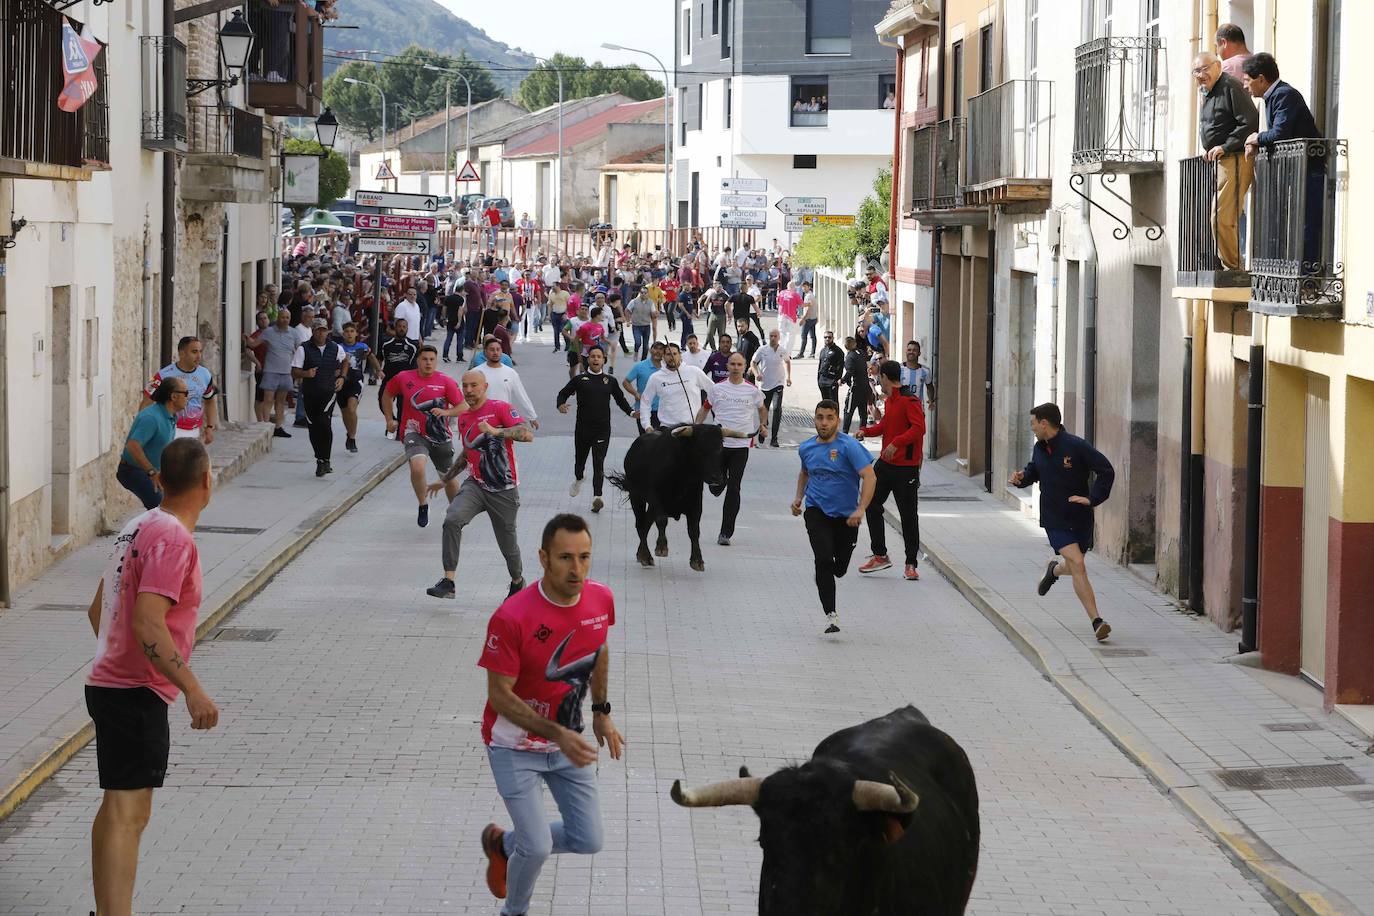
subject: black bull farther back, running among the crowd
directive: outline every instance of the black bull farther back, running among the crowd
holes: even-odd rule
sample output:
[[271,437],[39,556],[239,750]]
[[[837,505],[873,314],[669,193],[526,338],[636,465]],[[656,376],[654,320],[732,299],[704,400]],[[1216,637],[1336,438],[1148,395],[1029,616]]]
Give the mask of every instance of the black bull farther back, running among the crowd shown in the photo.
[[635,509],[635,530],[639,531],[640,566],[653,566],[649,552],[649,529],[658,526],[654,553],[668,556],[668,519],[687,516],[687,537],[691,538],[691,567],[706,570],[701,556],[701,486],[724,483],[721,471],[721,438],[749,435],[709,423],[676,426],[655,430],[635,439],[625,453],[625,472],[610,474],[607,479],[629,494]]

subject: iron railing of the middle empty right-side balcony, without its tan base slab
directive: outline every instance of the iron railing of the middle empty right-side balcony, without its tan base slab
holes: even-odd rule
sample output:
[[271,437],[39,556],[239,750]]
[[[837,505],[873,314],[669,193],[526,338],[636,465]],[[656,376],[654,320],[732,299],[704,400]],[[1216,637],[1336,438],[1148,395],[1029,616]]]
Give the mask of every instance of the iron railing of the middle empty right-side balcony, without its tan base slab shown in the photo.
[[1009,80],[969,99],[967,187],[1048,179],[1054,152],[1054,84]]

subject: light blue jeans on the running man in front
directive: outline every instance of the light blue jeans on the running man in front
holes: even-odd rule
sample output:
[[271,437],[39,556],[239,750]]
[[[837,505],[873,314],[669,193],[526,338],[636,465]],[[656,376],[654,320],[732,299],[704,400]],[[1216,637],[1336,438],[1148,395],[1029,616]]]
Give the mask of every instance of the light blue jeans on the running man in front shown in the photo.
[[[510,858],[506,872],[503,916],[529,911],[529,898],[544,860],[561,853],[591,856],[602,847],[600,805],[596,798],[595,766],[573,766],[562,751],[515,751],[488,747],[486,759],[496,777],[496,791],[506,802],[511,828],[504,849]],[[548,786],[562,820],[550,823],[539,781]]]

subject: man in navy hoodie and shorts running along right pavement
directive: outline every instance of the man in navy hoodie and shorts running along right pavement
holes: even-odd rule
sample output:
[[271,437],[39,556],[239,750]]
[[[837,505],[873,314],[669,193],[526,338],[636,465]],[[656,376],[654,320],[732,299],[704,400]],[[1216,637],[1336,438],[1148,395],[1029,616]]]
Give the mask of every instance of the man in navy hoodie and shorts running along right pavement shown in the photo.
[[1009,482],[1020,488],[1040,483],[1040,527],[1058,556],[1050,560],[1036,591],[1044,595],[1061,575],[1072,577],[1073,592],[1101,643],[1112,633],[1112,626],[1098,614],[1098,599],[1088,581],[1087,552],[1092,549],[1092,507],[1112,496],[1116,471],[1102,452],[1065,431],[1062,423],[1055,404],[1030,408],[1036,444],[1025,470],[1013,474]]

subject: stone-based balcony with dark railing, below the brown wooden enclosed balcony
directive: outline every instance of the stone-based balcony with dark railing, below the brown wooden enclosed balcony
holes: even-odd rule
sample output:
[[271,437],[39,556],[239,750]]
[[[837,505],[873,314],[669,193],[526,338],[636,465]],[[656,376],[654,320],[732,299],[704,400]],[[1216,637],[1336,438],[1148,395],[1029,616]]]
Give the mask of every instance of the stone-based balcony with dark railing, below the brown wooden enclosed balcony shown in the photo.
[[192,106],[181,198],[213,203],[267,203],[269,162],[262,118],[242,108]]

